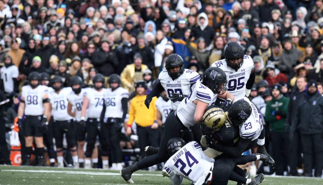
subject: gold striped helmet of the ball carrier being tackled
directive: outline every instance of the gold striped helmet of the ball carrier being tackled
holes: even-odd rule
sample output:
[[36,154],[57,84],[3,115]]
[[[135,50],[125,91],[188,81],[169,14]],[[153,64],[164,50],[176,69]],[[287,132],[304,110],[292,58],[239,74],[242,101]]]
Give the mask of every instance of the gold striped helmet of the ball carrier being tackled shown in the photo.
[[212,107],[206,109],[202,118],[202,128],[207,133],[214,133],[220,130],[226,121],[226,114],[223,109],[219,107]]

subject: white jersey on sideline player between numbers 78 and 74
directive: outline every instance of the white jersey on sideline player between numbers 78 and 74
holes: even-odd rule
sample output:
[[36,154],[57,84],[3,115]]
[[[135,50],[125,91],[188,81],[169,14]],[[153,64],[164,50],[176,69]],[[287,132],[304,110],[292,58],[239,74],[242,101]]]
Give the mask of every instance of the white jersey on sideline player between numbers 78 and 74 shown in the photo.
[[77,95],[72,91],[68,97],[68,102],[73,106],[75,112],[75,120],[81,121],[81,110],[83,104],[83,98],[86,96],[87,88],[82,88],[81,92]]

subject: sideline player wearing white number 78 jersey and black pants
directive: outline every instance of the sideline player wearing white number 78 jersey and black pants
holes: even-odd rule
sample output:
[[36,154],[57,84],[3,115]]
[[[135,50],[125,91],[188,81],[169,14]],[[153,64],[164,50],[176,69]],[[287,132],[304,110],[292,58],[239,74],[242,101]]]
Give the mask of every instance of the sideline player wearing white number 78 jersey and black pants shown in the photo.
[[49,94],[49,99],[52,108],[53,116],[53,134],[55,138],[56,153],[57,153],[57,167],[64,167],[63,163],[63,134],[65,133],[67,146],[70,149],[73,166],[75,168],[79,167],[78,155],[77,155],[77,145],[76,136],[74,130],[73,117],[68,115],[67,105],[68,96],[72,92],[71,87],[63,88],[62,77],[56,75],[51,80],[51,85],[54,92]]

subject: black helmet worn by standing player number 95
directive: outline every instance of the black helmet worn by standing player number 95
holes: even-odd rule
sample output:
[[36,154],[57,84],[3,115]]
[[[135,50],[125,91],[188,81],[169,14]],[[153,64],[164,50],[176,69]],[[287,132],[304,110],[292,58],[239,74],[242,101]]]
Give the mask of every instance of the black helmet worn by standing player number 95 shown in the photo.
[[[225,62],[229,67],[231,67],[235,71],[238,71],[238,69],[242,66],[244,54],[245,54],[245,51],[238,42],[228,42],[224,46]],[[235,59],[235,58],[241,58],[241,62],[238,64],[232,64],[229,61],[229,59]]]

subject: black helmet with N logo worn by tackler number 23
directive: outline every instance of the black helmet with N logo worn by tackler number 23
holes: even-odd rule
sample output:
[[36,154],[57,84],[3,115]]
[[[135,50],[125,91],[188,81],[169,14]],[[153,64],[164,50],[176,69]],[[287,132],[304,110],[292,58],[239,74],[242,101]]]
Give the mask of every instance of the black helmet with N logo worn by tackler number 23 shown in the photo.
[[251,113],[251,105],[246,100],[240,99],[231,105],[227,118],[232,124],[239,125],[245,122]]

